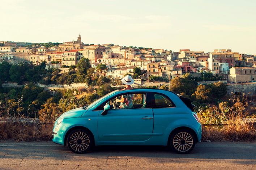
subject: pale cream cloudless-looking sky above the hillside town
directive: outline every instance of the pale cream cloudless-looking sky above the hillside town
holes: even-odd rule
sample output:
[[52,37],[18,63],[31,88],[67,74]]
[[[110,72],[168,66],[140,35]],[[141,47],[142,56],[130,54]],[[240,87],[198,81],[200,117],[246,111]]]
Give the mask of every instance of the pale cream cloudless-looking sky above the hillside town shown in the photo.
[[256,55],[256,0],[5,0],[0,40]]

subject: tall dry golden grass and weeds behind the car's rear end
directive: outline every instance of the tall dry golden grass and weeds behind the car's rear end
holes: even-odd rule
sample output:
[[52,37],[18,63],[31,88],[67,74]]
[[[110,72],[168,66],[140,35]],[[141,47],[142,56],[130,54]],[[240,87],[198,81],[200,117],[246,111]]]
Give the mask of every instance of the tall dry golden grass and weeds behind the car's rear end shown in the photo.
[[203,126],[202,141],[255,141],[256,129],[253,124],[242,121],[247,116],[248,95],[232,94],[231,103],[201,108],[197,115],[202,124],[225,124],[223,126]]

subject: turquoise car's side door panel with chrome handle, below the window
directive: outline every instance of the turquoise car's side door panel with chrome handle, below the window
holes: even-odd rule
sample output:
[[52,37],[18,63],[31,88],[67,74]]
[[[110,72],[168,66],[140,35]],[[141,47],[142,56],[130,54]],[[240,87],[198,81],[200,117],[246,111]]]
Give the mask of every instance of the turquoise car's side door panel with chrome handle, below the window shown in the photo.
[[153,133],[154,116],[152,108],[145,106],[145,99],[142,101],[141,104],[133,103],[135,108],[112,108],[105,116],[101,115],[103,110],[100,111],[98,116],[99,140],[101,142],[129,142],[149,139]]

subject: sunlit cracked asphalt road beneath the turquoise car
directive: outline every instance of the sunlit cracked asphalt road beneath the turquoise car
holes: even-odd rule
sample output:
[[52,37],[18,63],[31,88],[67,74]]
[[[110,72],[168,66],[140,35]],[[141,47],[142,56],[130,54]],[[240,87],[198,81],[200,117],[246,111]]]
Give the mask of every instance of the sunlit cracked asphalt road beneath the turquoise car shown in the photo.
[[256,142],[202,142],[187,155],[155,146],[104,146],[75,154],[52,142],[0,142],[1,170],[254,169]]

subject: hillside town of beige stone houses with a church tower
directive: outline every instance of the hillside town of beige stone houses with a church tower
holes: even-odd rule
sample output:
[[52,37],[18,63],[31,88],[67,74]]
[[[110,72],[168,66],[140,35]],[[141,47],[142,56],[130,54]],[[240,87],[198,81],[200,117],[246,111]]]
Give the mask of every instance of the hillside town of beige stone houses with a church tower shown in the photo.
[[256,79],[256,55],[232,52],[231,49],[214,49],[212,52],[180,49],[174,52],[114,44],[89,45],[81,41],[81,35],[76,41],[51,47],[40,44],[17,46],[15,42],[0,41],[0,63],[32,63],[38,66],[46,62],[46,69],[59,68],[66,72],[82,58],[89,59],[94,68],[99,64],[106,65],[102,74],[117,79],[134,75],[135,67],[140,68],[140,77],[148,80],[151,76],[171,80],[187,72],[194,77],[212,73],[230,83],[247,83]]

